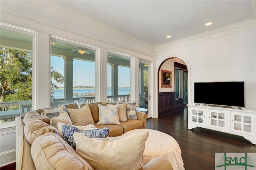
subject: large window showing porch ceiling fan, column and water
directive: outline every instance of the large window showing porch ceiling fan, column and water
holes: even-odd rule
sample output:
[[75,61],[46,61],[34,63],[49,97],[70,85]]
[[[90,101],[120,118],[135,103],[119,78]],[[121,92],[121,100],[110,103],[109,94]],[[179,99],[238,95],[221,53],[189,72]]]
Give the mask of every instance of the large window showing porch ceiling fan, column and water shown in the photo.
[[95,102],[95,50],[52,38],[51,51],[51,106]]

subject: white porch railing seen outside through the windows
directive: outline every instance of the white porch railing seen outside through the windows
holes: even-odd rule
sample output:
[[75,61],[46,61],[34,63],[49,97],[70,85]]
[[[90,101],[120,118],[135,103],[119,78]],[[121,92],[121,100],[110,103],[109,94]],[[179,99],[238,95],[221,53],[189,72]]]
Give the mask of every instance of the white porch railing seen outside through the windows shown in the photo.
[[[95,96],[74,97],[73,103],[79,107],[79,99],[85,99],[83,103],[94,103]],[[118,100],[130,101],[130,95],[118,95]],[[108,96],[108,103],[114,102],[114,96]],[[66,99],[51,99],[51,107],[57,107],[60,104],[66,104]],[[15,121],[15,117],[21,113],[32,111],[32,101],[6,101],[0,102],[0,123]]]

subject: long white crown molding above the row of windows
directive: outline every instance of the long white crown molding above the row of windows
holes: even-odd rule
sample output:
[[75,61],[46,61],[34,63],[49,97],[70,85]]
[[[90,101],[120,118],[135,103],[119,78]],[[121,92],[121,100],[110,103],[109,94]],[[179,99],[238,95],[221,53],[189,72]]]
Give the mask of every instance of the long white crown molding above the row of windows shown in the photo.
[[[26,1],[22,1],[22,2],[26,2]],[[70,34],[81,36],[86,39],[92,40],[92,42],[95,41],[103,45],[106,44],[107,47],[109,47],[109,45],[112,45],[117,49],[119,48],[119,49],[124,49],[125,51],[133,51],[134,53],[138,53],[138,55],[145,56],[150,60],[153,60],[155,57],[153,45],[142,42],[122,32],[119,32],[103,24],[95,22],[89,18],[85,18],[84,16],[78,13],[74,13],[72,11],[63,9],[60,6],[56,6],[56,4],[50,1],[40,1],[40,2],[42,2],[42,5],[40,4],[40,9],[38,9],[40,10],[40,15],[44,17],[50,17],[51,19],[43,18],[41,16],[31,14],[23,10],[19,10],[5,4],[1,4],[1,16],[3,16],[2,14],[6,14],[9,16],[13,16],[15,18],[26,20],[30,23],[32,22],[34,24],[40,24],[43,26],[47,26],[49,28],[53,28],[53,29],[64,31],[64,32],[68,32]],[[28,8],[34,8],[34,6],[32,5],[30,6],[30,3],[26,3],[26,6],[28,6]],[[46,6],[46,8],[44,8],[44,6]],[[43,9],[47,9],[47,10],[44,11]],[[37,10],[37,9],[34,9],[34,10]],[[49,14],[46,15],[48,11],[54,11],[51,14],[52,16],[50,16]],[[45,13],[42,14],[43,12]],[[72,18],[76,18],[76,20]],[[81,20],[83,22],[79,22]],[[15,25],[15,23],[8,23],[8,24]],[[35,31],[44,32],[44,28],[37,28],[37,30]],[[95,44],[92,44],[92,45],[95,45]]]

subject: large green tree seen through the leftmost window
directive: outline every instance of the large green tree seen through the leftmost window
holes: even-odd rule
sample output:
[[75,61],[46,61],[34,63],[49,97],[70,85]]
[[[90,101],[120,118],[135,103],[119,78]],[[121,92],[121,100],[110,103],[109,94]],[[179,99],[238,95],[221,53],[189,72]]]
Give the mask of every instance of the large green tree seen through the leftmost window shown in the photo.
[[32,53],[0,47],[0,101],[32,99]]

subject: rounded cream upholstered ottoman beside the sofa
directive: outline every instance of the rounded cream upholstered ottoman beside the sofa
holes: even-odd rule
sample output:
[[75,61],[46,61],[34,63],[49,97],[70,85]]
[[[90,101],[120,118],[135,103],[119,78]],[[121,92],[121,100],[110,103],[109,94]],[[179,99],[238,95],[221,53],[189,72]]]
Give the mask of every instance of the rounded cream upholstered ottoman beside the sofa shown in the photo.
[[149,131],[148,139],[145,142],[142,165],[145,165],[157,156],[162,156],[172,164],[173,170],[184,170],[180,146],[172,136],[152,129],[130,130],[122,136],[140,132],[142,130]]

